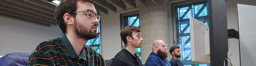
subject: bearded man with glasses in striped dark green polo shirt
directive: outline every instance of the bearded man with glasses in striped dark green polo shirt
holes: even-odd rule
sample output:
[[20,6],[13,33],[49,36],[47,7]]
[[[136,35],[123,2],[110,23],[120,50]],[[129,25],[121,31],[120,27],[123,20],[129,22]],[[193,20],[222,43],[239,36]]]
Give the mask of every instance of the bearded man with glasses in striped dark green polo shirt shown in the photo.
[[102,56],[86,41],[97,37],[97,14],[93,0],[62,0],[55,18],[62,37],[37,45],[28,58],[28,66],[105,66]]

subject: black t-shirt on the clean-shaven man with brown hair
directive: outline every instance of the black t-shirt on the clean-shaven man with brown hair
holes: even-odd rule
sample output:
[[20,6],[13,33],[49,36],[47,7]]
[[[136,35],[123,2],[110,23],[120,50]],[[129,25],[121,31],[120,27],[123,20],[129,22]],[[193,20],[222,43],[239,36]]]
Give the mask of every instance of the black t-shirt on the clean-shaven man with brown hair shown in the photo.
[[136,54],[135,56],[123,49],[116,54],[112,66],[142,66],[140,58]]

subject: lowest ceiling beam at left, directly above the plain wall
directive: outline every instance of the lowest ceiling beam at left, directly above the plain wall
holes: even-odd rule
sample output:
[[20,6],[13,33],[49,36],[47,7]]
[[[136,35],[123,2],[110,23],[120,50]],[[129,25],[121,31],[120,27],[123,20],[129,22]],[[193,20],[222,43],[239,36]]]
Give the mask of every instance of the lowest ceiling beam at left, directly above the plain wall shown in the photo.
[[26,21],[26,22],[31,22],[31,23],[34,23],[34,24],[39,24],[39,25],[51,27],[50,24],[46,24],[46,23],[42,23],[42,22],[37,22],[37,21],[33,21],[33,20],[21,18],[21,17],[9,15],[9,14],[4,14],[4,13],[2,13],[2,12],[0,12],[0,15],[5,16],[5,17],[9,17],[9,18],[13,18],[13,19],[18,19],[18,20]]

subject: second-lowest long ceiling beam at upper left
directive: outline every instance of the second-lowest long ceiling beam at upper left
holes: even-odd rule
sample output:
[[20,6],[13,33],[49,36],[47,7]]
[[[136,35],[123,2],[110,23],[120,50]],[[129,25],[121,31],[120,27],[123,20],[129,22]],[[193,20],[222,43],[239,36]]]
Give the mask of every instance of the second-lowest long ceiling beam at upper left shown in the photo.
[[0,8],[10,10],[10,11],[13,11],[13,12],[17,12],[19,14],[23,14],[23,15],[27,15],[27,16],[31,16],[31,17],[36,17],[36,18],[39,18],[39,19],[43,19],[43,20],[47,20],[47,21],[56,23],[55,19],[51,19],[51,18],[44,17],[44,16],[37,15],[37,14],[33,14],[33,13],[30,13],[30,12],[20,10],[20,9],[17,9],[17,8],[13,8],[13,7],[9,7],[9,6],[6,6],[6,5],[0,4]]

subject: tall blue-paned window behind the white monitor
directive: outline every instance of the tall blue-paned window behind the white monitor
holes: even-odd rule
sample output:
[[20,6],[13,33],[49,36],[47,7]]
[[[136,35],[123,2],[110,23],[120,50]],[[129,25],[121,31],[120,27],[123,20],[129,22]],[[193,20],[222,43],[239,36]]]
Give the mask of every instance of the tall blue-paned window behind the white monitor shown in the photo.
[[[191,2],[190,2],[191,3]],[[191,4],[174,4],[173,12],[175,12],[176,24],[176,42],[181,51],[180,60],[184,66],[209,66],[209,62],[194,62],[191,61],[191,45],[190,45],[190,25],[189,18],[193,17],[207,25],[208,18],[208,3],[207,1],[191,3]]]

